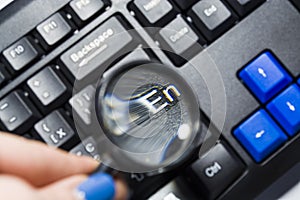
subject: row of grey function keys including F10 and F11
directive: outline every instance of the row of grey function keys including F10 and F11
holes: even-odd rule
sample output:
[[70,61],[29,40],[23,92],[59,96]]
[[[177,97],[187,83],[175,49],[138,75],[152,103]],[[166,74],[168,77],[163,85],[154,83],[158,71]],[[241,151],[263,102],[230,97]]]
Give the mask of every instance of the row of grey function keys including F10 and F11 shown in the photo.
[[[83,22],[95,16],[99,11],[103,11],[109,1],[102,0],[73,0],[38,24],[35,29],[27,33],[14,44],[7,47],[3,52],[3,63],[13,78],[26,67],[33,64],[38,58],[47,54],[54,47],[59,45],[75,29],[82,27]],[[70,14],[68,14],[70,13]],[[78,27],[75,26],[78,25]],[[1,68],[3,68],[1,66]],[[5,70],[6,70],[5,69]],[[0,85],[6,81],[0,75]]]

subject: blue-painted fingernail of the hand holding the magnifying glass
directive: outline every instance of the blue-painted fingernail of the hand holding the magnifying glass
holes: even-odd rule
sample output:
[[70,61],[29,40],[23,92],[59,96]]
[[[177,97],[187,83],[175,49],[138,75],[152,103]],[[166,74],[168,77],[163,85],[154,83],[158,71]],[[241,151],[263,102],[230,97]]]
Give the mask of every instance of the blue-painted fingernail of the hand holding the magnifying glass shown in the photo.
[[104,173],[91,175],[76,190],[76,197],[80,200],[112,200],[114,196],[114,180],[110,175]]

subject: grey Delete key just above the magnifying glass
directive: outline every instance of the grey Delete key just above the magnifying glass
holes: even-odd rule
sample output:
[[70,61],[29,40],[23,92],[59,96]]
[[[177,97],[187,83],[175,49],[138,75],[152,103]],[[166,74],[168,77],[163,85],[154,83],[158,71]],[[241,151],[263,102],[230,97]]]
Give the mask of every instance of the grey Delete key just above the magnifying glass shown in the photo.
[[177,16],[161,29],[157,39],[160,41],[163,49],[167,50],[167,53],[169,52],[171,57],[173,57],[173,61],[177,65],[182,64],[182,58],[190,59],[192,56],[191,52],[200,50],[200,45],[197,43],[199,37],[181,16]]

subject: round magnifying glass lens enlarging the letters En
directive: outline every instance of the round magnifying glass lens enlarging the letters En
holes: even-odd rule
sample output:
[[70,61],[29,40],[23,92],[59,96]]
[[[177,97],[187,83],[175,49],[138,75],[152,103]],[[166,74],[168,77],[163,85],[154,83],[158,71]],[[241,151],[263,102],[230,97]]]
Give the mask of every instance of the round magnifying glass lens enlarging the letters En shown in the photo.
[[164,64],[109,69],[97,84],[94,112],[101,162],[118,171],[162,173],[199,145],[197,97],[176,69]]

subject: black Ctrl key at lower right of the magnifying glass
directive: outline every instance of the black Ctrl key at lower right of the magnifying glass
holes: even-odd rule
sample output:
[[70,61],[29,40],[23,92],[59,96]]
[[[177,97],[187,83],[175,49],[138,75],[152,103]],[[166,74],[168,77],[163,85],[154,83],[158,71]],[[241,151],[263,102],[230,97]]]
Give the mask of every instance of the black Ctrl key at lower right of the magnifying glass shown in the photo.
[[243,164],[219,143],[187,169],[196,191],[215,199],[243,172]]

